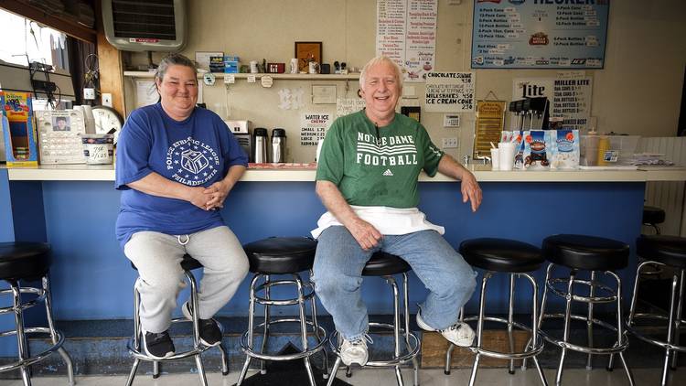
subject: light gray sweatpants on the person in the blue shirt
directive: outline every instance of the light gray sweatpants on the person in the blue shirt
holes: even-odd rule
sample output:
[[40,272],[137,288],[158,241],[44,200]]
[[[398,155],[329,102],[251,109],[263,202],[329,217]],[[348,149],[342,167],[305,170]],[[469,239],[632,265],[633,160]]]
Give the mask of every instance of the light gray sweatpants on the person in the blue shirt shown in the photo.
[[[186,241],[185,235],[181,241]],[[226,226],[192,233],[185,245],[174,235],[136,232],[123,252],[138,269],[140,278],[135,285],[141,294],[141,326],[148,332],[163,332],[171,325],[177,295],[184,287],[181,260],[185,253],[204,266],[198,294],[202,319],[209,319],[229,303],[248,274],[248,257]]]

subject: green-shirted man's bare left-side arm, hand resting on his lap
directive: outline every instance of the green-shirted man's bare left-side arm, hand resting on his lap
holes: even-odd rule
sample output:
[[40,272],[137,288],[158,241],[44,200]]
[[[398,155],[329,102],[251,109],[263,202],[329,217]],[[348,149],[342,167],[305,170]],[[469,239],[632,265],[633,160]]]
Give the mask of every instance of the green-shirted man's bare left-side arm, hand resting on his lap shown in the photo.
[[321,198],[327,210],[350,231],[350,234],[358,241],[362,249],[369,250],[379,243],[381,232],[355,214],[355,211],[350,208],[348,202],[346,202],[346,199],[343,198],[340,190],[333,182],[325,180],[316,181],[316,194]]

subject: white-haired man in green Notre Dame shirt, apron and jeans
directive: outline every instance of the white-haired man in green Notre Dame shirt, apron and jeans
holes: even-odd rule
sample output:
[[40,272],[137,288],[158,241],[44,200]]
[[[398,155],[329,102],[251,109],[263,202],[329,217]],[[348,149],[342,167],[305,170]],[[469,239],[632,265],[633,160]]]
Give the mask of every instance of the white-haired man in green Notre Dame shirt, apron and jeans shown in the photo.
[[316,293],[343,337],[346,365],[369,359],[369,320],[362,303],[361,272],[372,253],[389,252],[410,263],[430,293],[417,324],[440,331],[457,346],[470,346],[474,331],[458,322],[458,311],[474,291],[475,274],[441,236],[443,227],[425,220],[417,177],[423,169],[461,180],[463,202],[481,203],[477,180],[432,144],[422,124],[395,113],[402,94],[400,68],[386,57],[371,59],[359,77],[365,109],[331,125],[316,170],[316,193],[327,213],[312,234],[318,239]]

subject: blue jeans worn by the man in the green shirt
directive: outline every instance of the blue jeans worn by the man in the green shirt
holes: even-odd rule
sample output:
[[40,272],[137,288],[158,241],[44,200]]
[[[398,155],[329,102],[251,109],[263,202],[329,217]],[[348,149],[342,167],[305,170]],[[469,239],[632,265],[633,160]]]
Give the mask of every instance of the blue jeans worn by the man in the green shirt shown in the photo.
[[343,338],[361,338],[368,330],[367,307],[362,303],[362,269],[374,252],[394,254],[412,266],[429,290],[420,305],[430,327],[456,324],[459,310],[476,286],[476,273],[436,231],[384,235],[374,249],[363,250],[342,226],[327,228],[318,238],[314,275],[316,295],[334,318]]

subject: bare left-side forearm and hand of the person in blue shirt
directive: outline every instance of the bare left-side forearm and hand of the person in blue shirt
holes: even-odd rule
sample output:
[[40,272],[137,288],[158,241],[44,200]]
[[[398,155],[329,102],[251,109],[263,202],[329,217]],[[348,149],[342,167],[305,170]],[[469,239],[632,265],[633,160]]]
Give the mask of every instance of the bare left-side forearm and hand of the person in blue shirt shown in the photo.
[[200,209],[206,209],[209,201],[209,195],[204,193],[205,188],[188,187],[155,172],[126,185],[151,196],[183,199]]

